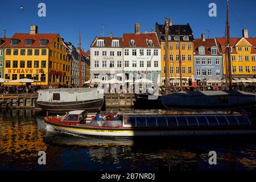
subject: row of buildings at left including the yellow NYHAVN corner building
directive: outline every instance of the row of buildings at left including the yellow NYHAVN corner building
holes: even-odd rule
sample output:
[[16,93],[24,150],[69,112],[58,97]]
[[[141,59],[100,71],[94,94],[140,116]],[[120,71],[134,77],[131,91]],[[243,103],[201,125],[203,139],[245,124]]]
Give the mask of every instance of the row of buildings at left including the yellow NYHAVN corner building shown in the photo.
[[[90,55],[81,58],[82,82],[89,79]],[[79,49],[64,42],[59,34],[38,34],[30,26],[29,34],[0,38],[0,77],[7,80],[31,78],[38,85],[77,86],[79,84]],[[4,85],[20,85],[4,82]]]

